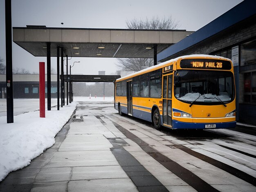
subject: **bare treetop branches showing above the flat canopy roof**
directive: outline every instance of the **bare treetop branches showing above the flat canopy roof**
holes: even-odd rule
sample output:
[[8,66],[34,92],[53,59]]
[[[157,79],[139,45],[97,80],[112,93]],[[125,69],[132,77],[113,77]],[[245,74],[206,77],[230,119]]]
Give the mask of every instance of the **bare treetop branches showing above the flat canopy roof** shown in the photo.
[[128,29],[178,29],[180,21],[176,21],[172,16],[160,19],[158,16],[153,16],[151,20],[141,20],[134,18],[131,21],[126,20]]

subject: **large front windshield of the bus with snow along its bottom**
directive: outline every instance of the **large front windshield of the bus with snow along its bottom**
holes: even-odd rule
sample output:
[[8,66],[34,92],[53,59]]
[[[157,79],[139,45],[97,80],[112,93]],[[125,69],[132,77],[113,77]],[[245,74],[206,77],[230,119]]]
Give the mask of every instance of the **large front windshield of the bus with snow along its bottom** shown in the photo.
[[[230,71],[178,70],[181,87],[174,87],[175,98],[195,105],[219,105],[235,98],[234,77]],[[177,72],[175,72],[177,75]]]

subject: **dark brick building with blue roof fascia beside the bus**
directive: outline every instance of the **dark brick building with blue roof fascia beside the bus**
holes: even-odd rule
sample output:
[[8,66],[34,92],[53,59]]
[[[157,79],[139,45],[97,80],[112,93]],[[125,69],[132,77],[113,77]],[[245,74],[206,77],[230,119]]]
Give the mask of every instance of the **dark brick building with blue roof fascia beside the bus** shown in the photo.
[[237,121],[256,125],[256,1],[245,0],[157,55],[157,60],[191,54],[226,57],[234,64]]

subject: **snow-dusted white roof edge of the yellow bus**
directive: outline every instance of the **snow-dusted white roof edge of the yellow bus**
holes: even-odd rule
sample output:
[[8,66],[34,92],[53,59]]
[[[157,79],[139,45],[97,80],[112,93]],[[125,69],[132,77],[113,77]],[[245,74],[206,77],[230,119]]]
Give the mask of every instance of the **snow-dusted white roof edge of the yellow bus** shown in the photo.
[[[229,60],[229,61],[231,61],[229,58],[225,58],[225,57],[221,57],[221,56],[213,56],[213,55],[200,55],[200,54],[197,54],[197,55],[180,56],[180,57],[177,57],[177,58],[174,58],[174,59],[165,61],[165,62],[163,62],[163,63],[159,63],[158,65],[154,65],[154,66],[152,66],[152,67],[148,67],[148,68],[146,68],[146,69],[142,69],[142,70],[140,70],[140,71],[137,71],[137,72],[135,72],[135,73],[129,74],[129,75],[127,75],[127,76],[118,78],[116,81],[125,80],[125,79],[128,79],[128,78],[131,78],[132,76],[136,76],[136,75],[139,75],[139,74],[143,74],[143,73],[146,72],[146,71],[154,71],[154,70],[156,70],[156,69],[160,69],[160,68],[164,67],[164,65],[166,65],[166,64],[168,64],[168,63],[173,63],[173,62],[175,62],[175,61],[182,60],[182,59],[188,59],[188,58],[221,59],[221,60]],[[231,63],[232,63],[232,62],[231,62]]]

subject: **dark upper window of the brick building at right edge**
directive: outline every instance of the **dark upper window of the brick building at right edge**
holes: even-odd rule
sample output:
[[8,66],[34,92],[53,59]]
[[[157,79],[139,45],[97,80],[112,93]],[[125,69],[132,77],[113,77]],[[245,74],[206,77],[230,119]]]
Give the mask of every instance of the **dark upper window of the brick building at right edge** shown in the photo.
[[240,65],[256,64],[256,40],[241,44]]

